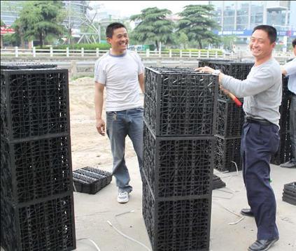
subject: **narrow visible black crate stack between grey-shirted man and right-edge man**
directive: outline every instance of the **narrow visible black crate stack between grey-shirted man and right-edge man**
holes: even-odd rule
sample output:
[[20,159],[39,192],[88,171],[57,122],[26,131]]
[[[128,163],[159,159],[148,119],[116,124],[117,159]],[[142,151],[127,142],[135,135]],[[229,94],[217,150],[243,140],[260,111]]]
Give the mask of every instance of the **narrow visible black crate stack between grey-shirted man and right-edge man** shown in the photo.
[[280,125],[280,144],[279,150],[274,156],[272,156],[272,164],[282,164],[288,162],[292,157],[292,147],[290,141],[290,95],[291,92],[288,89],[288,80],[283,76],[283,92],[281,106],[279,112],[281,113]]

